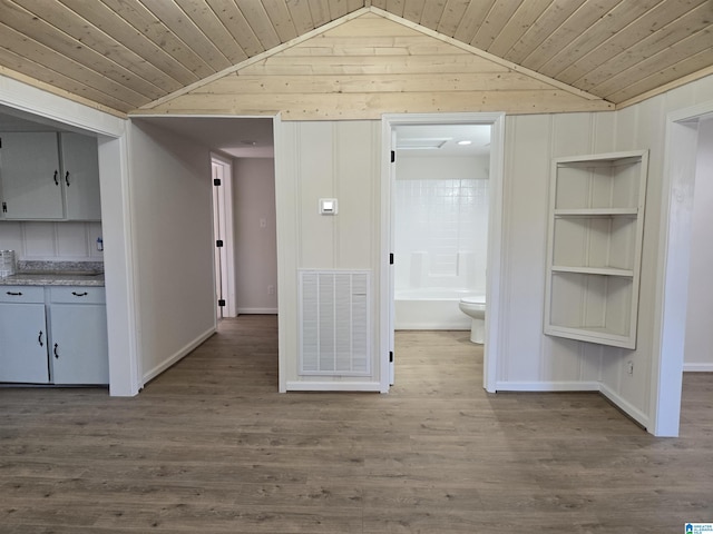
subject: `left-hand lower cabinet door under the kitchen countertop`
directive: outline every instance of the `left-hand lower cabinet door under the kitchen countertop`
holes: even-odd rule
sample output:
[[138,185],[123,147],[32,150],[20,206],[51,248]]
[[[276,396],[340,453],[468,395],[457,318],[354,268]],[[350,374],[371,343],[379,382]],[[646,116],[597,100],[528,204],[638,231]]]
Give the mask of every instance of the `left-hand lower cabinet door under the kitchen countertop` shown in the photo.
[[0,304],[0,382],[49,382],[43,304]]

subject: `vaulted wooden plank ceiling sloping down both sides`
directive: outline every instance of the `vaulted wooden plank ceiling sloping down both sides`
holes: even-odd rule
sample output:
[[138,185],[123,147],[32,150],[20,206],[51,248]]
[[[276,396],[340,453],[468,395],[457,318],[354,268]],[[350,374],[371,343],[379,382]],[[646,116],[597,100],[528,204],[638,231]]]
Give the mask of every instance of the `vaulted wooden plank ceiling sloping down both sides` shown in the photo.
[[368,12],[609,108],[713,73],[711,0],[0,0],[0,73],[123,116]]

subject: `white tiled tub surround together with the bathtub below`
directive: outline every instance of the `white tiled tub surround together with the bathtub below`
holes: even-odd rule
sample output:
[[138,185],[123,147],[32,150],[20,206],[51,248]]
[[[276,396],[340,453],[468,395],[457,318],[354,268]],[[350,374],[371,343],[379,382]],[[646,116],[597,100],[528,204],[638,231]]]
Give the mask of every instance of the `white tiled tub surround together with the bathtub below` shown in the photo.
[[[448,160],[441,164],[440,175],[448,177]],[[467,295],[485,295],[488,180],[481,177],[477,159],[460,167],[479,178],[395,181],[397,329],[468,330],[471,322],[459,301]]]

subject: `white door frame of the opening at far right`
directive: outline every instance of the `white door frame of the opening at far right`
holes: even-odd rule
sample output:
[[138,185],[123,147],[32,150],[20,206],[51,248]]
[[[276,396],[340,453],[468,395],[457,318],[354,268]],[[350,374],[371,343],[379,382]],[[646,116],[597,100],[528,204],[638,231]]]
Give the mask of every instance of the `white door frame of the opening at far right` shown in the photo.
[[697,126],[712,113],[713,101],[709,101],[666,116],[654,325],[658,335],[649,397],[649,432],[662,437],[676,437],[681,423]]

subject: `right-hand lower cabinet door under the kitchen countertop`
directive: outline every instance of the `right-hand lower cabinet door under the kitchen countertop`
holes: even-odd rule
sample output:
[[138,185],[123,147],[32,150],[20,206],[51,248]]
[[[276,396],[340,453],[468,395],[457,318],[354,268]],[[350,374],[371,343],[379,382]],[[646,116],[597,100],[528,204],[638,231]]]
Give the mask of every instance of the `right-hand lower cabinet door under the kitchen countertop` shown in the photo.
[[106,307],[91,304],[52,304],[50,325],[52,382],[108,384]]

